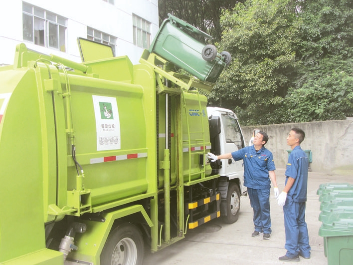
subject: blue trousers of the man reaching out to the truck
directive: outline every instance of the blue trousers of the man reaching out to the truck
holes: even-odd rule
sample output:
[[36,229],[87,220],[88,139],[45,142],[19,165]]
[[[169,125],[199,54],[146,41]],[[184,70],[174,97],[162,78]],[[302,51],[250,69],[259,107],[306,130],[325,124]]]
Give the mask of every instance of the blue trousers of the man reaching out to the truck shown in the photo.
[[250,205],[254,211],[255,231],[271,234],[270,189],[248,188]]

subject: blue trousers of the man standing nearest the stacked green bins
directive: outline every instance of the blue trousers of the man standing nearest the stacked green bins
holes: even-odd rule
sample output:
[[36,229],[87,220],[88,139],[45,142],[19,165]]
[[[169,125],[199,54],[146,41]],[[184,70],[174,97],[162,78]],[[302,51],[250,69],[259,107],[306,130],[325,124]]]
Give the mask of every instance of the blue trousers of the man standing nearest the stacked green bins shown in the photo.
[[309,245],[308,227],[305,222],[306,203],[293,202],[287,198],[283,206],[284,228],[286,232],[286,256],[293,258],[298,256],[299,251],[304,257],[310,257],[311,247]]

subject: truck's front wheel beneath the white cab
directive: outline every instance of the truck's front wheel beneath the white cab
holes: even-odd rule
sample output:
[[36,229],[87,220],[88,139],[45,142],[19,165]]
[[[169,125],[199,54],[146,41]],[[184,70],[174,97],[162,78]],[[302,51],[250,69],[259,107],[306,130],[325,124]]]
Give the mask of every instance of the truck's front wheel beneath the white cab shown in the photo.
[[240,192],[238,185],[234,182],[230,182],[227,191],[227,215],[225,216],[225,222],[227,224],[233,224],[238,220],[240,210]]

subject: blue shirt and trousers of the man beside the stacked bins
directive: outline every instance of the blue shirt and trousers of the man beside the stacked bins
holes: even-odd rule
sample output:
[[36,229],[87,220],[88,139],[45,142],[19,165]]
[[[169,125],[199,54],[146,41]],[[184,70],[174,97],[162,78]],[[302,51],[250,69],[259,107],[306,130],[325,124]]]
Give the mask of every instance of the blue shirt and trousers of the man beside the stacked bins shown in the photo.
[[288,157],[286,169],[286,182],[288,177],[295,179],[293,186],[287,194],[284,213],[284,228],[286,232],[286,256],[310,257],[308,227],[305,222],[305,206],[308,190],[309,159],[300,146],[296,146]]

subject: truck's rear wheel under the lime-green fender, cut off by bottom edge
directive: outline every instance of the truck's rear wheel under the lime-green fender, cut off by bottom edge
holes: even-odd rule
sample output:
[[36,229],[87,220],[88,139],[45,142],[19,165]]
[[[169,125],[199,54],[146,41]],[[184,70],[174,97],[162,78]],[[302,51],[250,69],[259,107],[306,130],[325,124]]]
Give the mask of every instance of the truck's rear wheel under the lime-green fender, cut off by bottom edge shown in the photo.
[[142,265],[144,252],[141,231],[123,224],[110,233],[100,256],[101,265]]

